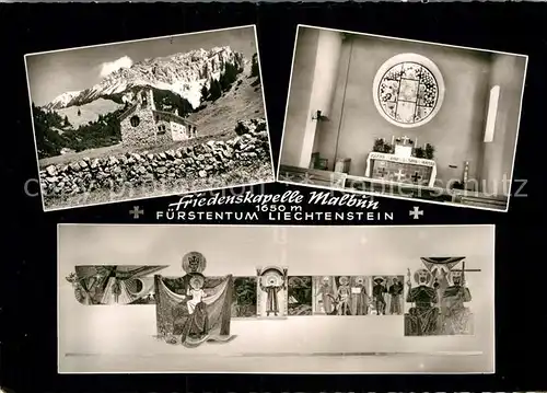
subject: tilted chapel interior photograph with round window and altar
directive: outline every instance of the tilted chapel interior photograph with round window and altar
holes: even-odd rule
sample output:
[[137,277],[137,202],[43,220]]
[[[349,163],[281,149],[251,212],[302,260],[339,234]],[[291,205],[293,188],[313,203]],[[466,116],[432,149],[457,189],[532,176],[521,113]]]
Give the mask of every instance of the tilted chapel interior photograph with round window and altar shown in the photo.
[[507,211],[527,60],[299,25],[278,181]]

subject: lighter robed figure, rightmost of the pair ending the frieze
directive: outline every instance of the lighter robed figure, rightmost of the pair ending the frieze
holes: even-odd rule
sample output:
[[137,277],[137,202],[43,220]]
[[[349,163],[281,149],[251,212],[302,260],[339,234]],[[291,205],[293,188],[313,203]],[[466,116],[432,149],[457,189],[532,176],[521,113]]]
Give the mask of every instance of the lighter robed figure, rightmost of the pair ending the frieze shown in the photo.
[[447,279],[450,286],[441,298],[441,334],[470,334],[472,313],[465,303],[472,301],[472,293],[463,271],[450,271]]

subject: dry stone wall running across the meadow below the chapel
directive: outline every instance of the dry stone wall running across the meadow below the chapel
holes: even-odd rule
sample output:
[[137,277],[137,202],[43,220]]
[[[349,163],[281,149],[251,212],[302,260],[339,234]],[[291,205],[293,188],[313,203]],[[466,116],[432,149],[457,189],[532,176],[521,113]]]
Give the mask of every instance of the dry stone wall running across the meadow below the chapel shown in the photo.
[[179,178],[205,178],[232,170],[252,169],[270,161],[265,119],[240,122],[237,136],[228,141],[210,140],[161,153],[126,153],[62,165],[49,165],[39,172],[46,197],[83,194],[95,189],[140,186],[150,182],[168,184]]

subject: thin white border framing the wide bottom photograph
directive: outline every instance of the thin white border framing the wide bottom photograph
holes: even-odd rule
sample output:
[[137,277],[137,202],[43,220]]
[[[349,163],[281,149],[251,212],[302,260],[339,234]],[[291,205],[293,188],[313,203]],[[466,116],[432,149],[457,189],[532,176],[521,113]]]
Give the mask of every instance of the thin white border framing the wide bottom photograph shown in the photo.
[[[182,223],[182,224],[168,224],[168,223],[159,223],[159,224],[136,224],[136,223],[74,223],[74,222],[67,222],[67,223],[57,223],[57,373],[59,374],[127,374],[127,371],[112,371],[112,372],[104,372],[104,371],[82,371],[82,372],[68,372],[68,371],[60,371],[60,359],[61,359],[61,351],[60,351],[60,340],[59,340],[59,328],[60,328],[60,235],[59,235],[59,229],[60,227],[221,227],[221,228],[306,228],[306,229],[314,229],[314,228],[325,228],[325,227],[331,227],[327,224],[322,224],[322,226],[266,226],[266,224],[218,224],[218,223],[212,223],[212,224],[191,224],[191,223]],[[345,226],[345,227],[354,227],[354,228],[481,228],[481,227],[487,227],[491,228],[492,230],[492,326],[491,326],[491,335],[492,335],[492,343],[491,343],[491,366],[492,366],[492,371],[485,372],[485,371],[452,371],[452,372],[427,372],[427,371],[407,371],[407,372],[322,372],[322,371],[315,371],[315,372],[249,372],[249,371],[214,371],[213,373],[216,374],[274,374],[274,375],[284,375],[284,374],[305,374],[305,375],[316,375],[316,374],[356,374],[356,375],[364,375],[364,374],[424,374],[424,375],[437,375],[437,374],[446,374],[446,375],[462,375],[462,374],[496,374],[496,224],[492,223],[481,223],[481,224],[447,224],[447,226]],[[130,305],[129,305],[130,307]],[[241,320],[241,319],[238,319]],[[430,354],[430,352],[428,352]],[[428,355],[424,354],[424,355]],[[435,352],[437,354],[437,352]],[[440,352],[441,355],[447,355],[450,356],[451,354],[446,354],[444,351]],[[419,355],[419,354],[416,354]],[[439,355],[439,354],[438,354]],[[463,355],[485,355],[485,352],[479,351],[477,352],[466,352]],[[210,371],[191,371],[191,372],[186,372],[186,371],[138,371],[138,372],[129,372],[129,373],[138,373],[138,374],[210,374]]]

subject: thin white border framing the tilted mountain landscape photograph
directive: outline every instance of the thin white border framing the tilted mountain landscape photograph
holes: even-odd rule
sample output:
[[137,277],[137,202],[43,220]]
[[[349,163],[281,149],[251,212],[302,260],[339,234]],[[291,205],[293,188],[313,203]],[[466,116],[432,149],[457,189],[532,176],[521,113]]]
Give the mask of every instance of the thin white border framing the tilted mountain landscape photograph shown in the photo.
[[[270,170],[271,170],[271,175],[272,175],[272,182],[258,182],[258,183],[247,183],[247,184],[232,184],[232,185],[228,185],[228,186],[224,186],[224,187],[217,187],[217,188],[193,189],[193,190],[189,190],[189,192],[177,192],[177,193],[161,194],[161,195],[153,195],[153,196],[143,196],[143,197],[137,197],[137,198],[127,198],[127,199],[112,200],[112,201],[106,201],[106,203],[92,203],[92,204],[77,205],[77,206],[63,206],[63,207],[50,208],[50,209],[46,208],[45,200],[44,200],[44,193],[42,190],[42,178],[39,176],[40,170],[39,170],[38,145],[36,142],[36,130],[35,130],[35,127],[34,127],[34,115],[33,115],[33,109],[32,109],[33,100],[32,100],[32,94],[31,94],[31,82],[30,82],[30,77],[28,77],[28,65],[26,62],[26,58],[27,57],[30,57],[30,56],[36,56],[36,55],[54,54],[54,53],[60,53],[60,51],[79,50],[79,49],[90,49],[90,48],[97,48],[97,47],[112,46],[112,45],[131,44],[131,43],[139,43],[139,42],[154,41],[154,39],[164,39],[164,38],[171,38],[171,37],[184,37],[184,36],[189,36],[189,35],[197,35],[197,34],[218,33],[218,32],[225,32],[225,31],[231,31],[231,30],[248,28],[248,27],[253,27],[254,35],[255,35],[255,48],[256,48],[256,57],[257,57],[257,61],[258,61],[258,72],[259,72],[259,78],[260,78],[260,90],[263,92],[264,117],[265,117],[265,120],[266,120],[266,129],[268,131],[267,134],[268,134],[268,146],[269,146]],[[32,122],[32,127],[33,127],[34,150],[35,150],[35,153],[36,153],[37,176],[38,176],[38,184],[40,185],[39,195],[40,195],[40,199],[42,199],[42,209],[43,209],[44,212],[59,211],[59,210],[67,210],[67,209],[78,209],[78,208],[91,207],[91,206],[104,206],[104,205],[112,205],[112,204],[120,204],[120,203],[133,201],[133,200],[163,198],[163,197],[170,197],[170,196],[175,196],[175,195],[186,195],[186,194],[195,194],[195,193],[207,193],[207,192],[213,192],[213,190],[220,190],[220,189],[230,189],[230,188],[234,188],[234,187],[253,187],[253,186],[257,186],[257,185],[261,185],[261,184],[270,184],[270,183],[274,183],[276,181],[275,164],[274,164],[274,154],[272,154],[272,151],[271,151],[271,137],[270,137],[270,129],[269,129],[269,122],[268,122],[268,111],[267,111],[267,107],[266,107],[266,95],[264,93],[263,67],[261,67],[261,62],[260,62],[260,50],[258,48],[258,35],[257,35],[257,32],[256,32],[256,24],[248,24],[248,25],[235,26],[235,27],[224,27],[224,28],[206,30],[206,31],[190,32],[190,33],[175,34],[175,35],[164,35],[164,36],[152,37],[152,38],[121,41],[121,42],[108,43],[108,44],[80,46],[80,47],[67,48],[67,49],[56,49],[56,50],[37,51],[37,53],[32,53],[32,54],[24,55],[24,62],[25,62],[25,73],[26,73],[26,89],[28,91],[28,107],[31,109],[31,122]]]

